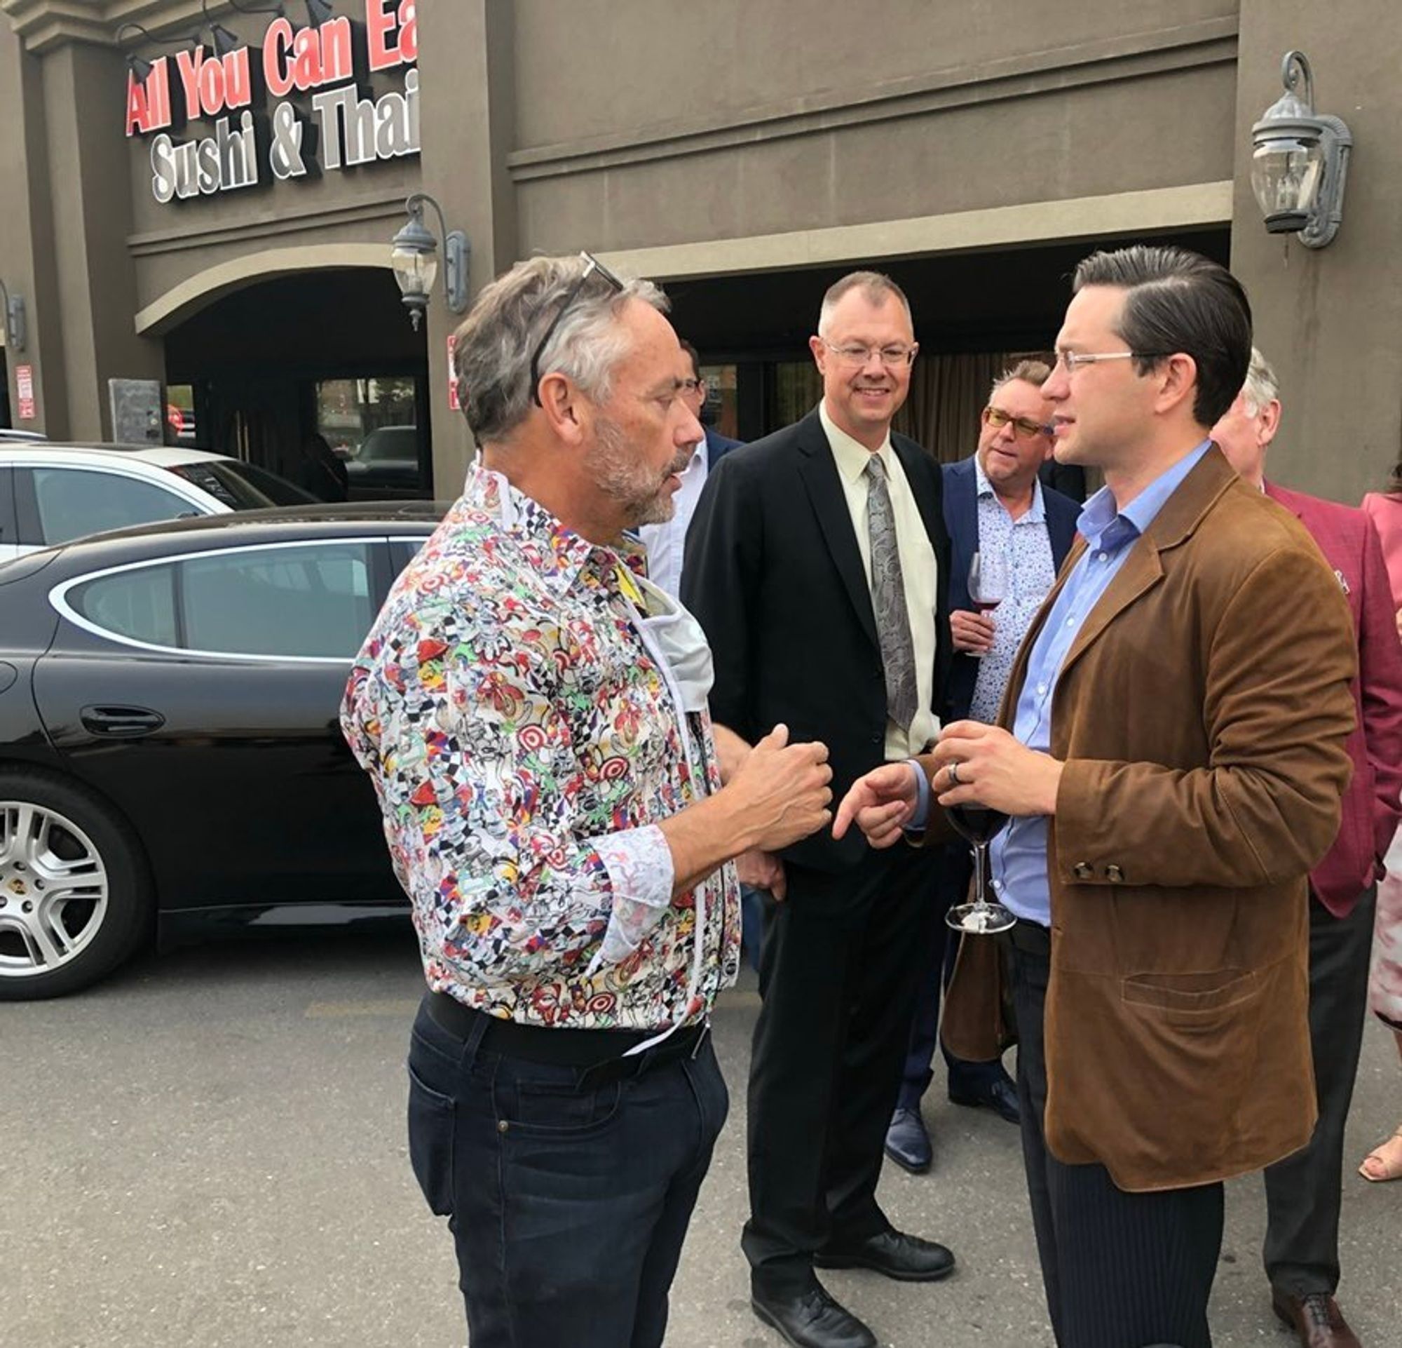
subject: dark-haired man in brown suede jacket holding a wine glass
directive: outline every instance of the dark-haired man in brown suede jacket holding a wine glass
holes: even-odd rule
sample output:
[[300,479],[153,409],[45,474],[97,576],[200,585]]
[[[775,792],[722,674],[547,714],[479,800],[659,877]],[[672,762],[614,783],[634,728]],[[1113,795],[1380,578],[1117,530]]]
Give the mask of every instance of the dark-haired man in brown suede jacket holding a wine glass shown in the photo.
[[[1133,247],[1087,258],[1074,292],[1043,393],[1057,457],[1105,488],[1000,724],[956,721],[868,774],[833,832],[889,846],[939,823],[935,804],[1009,818],[991,871],[1018,919],[1022,1153],[1057,1342],[1210,1348],[1223,1181],[1315,1124],[1307,879],[1349,780],[1353,623],[1300,522],[1211,443],[1251,359],[1239,282]],[[946,1020],[983,1056],[1011,1032],[1004,965],[963,955]]]

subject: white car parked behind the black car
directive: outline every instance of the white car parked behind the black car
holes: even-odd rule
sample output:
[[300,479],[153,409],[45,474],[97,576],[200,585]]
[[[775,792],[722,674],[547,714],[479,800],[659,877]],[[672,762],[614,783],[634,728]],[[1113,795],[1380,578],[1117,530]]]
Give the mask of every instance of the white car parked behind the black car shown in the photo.
[[0,431],[0,562],[90,533],[315,498],[226,454],[161,445],[53,445]]

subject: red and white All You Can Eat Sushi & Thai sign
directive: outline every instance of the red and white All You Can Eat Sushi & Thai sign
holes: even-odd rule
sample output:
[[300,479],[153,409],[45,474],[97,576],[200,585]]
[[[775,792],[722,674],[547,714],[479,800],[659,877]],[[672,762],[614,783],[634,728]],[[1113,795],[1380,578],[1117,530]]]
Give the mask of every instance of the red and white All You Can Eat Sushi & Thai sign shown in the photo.
[[[279,15],[262,43],[223,56],[203,45],[126,81],[126,135],[151,135],[161,203],[310,178],[419,153],[415,0],[365,0],[365,22],[334,15],[296,28]],[[372,77],[404,70],[374,97]],[[212,135],[177,139],[186,122]],[[154,135],[153,135],[154,133]]]

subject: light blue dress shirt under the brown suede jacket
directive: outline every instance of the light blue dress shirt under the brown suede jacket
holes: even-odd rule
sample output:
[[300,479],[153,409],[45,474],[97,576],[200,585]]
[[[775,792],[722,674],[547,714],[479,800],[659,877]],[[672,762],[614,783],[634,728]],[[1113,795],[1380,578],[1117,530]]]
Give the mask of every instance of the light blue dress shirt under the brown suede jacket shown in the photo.
[[[1165,473],[1159,474],[1123,511],[1102,487],[1081,511],[1077,532],[1087,540],[1061,593],[1028,656],[1026,678],[1018,694],[1012,734],[1029,749],[1052,750],[1052,707],[1056,680],[1075,638],[1091,610],[1109,589],[1110,581],[1124,565],[1136,540],[1154,522],[1168,498],[1207,453],[1211,440],[1203,440]],[[923,826],[930,811],[930,788],[924,773],[917,773],[920,800],[911,826]],[[997,898],[1023,922],[1052,926],[1052,888],[1047,881],[1047,816],[1025,815],[997,833],[988,849],[993,889]]]

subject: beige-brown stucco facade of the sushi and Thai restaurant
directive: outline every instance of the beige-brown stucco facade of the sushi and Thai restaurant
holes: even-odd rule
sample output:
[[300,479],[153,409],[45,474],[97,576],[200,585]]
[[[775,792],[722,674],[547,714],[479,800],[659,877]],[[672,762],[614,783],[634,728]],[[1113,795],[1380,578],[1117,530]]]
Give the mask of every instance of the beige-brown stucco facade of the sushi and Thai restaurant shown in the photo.
[[[365,0],[336,10],[363,18]],[[836,0],[421,10],[418,156],[161,205],[150,137],[123,133],[115,36],[135,20],[168,35],[142,55],[188,49],[199,4],[0,0],[0,278],[28,307],[34,425],[107,433],[107,380],[161,377],[167,337],[241,288],[387,267],[422,189],[470,236],[474,290],[538,250],[687,285],[1230,230],[1284,386],[1276,474],[1356,501],[1396,457],[1392,0],[1328,15],[1298,0],[1078,0],[1054,22],[1029,0],[890,0],[875,24]],[[250,42],[269,21],[209,13]],[[1345,224],[1318,252],[1267,236],[1248,182],[1251,123],[1290,46],[1356,139]],[[468,450],[446,397],[456,321],[436,297],[422,338],[440,492]]]

